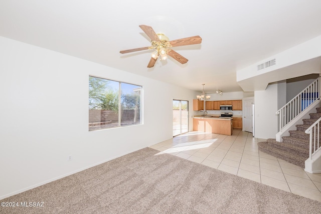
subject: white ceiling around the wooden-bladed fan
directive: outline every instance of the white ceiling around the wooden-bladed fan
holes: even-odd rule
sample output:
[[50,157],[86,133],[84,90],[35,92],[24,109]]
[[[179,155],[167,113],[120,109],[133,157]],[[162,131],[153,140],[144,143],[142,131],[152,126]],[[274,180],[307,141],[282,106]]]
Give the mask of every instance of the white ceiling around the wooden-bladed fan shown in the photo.
[[[321,35],[320,0],[1,0],[0,36],[206,93],[242,91],[236,71]],[[151,50],[138,27],[170,40],[186,57],[147,68]],[[107,77],[108,78],[108,77]]]

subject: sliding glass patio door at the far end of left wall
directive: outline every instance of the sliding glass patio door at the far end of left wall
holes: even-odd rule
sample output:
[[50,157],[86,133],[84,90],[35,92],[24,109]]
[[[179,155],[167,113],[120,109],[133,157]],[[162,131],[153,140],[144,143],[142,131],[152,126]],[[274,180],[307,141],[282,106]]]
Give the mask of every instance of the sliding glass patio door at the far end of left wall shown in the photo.
[[189,101],[173,100],[173,136],[189,131]]

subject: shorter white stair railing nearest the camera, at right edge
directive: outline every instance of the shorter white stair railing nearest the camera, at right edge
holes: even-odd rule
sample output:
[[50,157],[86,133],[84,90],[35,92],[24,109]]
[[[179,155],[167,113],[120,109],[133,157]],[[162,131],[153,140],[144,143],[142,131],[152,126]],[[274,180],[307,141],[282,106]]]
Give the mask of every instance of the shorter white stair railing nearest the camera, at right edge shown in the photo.
[[309,159],[311,159],[312,155],[314,155],[319,149],[321,149],[319,142],[320,121],[321,117],[305,130],[306,134],[310,134]]

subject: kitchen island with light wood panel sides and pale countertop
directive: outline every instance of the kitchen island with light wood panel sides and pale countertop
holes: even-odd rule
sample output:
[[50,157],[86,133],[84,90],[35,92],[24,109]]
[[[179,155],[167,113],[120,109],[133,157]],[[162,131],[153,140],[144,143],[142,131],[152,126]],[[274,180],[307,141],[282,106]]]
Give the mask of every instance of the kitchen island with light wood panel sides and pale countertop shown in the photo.
[[232,135],[232,118],[221,118],[218,116],[194,116],[193,130],[215,134]]

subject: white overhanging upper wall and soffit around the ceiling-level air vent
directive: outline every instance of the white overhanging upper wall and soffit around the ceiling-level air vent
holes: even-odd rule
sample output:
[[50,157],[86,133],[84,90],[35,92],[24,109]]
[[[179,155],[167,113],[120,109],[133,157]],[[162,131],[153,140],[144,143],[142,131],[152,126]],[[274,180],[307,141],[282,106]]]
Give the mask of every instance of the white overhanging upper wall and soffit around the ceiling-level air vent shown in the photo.
[[[257,70],[257,65],[275,59],[275,65]],[[243,91],[265,90],[272,82],[320,73],[321,35],[288,50],[263,59],[236,72]]]

